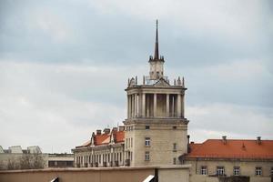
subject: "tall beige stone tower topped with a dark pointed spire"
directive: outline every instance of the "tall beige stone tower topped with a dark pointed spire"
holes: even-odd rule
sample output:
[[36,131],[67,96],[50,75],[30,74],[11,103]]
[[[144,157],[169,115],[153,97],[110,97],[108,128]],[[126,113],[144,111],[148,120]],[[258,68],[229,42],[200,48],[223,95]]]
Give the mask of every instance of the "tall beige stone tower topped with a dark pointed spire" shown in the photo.
[[[158,25],[158,22],[157,22]],[[127,166],[178,164],[187,153],[184,97],[187,88],[180,77],[171,85],[164,76],[164,57],[159,56],[158,30],[155,54],[149,57],[149,76],[141,84],[128,79],[127,118],[124,121]]]

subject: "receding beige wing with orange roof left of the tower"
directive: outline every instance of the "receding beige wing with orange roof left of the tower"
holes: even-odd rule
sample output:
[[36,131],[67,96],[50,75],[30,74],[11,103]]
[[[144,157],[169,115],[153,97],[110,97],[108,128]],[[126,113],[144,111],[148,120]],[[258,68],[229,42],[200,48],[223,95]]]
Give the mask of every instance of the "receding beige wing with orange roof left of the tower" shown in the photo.
[[72,149],[75,167],[125,166],[124,126],[96,130],[84,145]]

